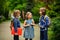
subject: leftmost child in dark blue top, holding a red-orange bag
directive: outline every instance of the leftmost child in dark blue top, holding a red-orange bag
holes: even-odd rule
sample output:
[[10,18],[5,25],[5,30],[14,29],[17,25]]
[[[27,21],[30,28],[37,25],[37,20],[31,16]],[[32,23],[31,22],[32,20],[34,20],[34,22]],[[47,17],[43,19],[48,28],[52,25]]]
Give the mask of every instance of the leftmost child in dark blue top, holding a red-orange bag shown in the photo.
[[14,34],[14,40],[19,40],[19,35],[17,33],[17,28],[20,28],[20,21],[18,19],[18,17],[20,16],[20,11],[19,10],[15,10],[13,13],[13,19],[11,21],[11,26],[10,28],[12,29],[12,26],[14,27],[15,30],[15,34]]

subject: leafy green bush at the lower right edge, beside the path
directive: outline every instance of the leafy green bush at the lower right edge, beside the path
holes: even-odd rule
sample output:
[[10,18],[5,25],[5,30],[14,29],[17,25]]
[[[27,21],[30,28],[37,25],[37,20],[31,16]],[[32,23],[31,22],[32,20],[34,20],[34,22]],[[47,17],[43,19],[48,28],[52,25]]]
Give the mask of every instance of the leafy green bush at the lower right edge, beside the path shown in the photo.
[[60,18],[54,18],[52,20],[52,31],[53,31],[53,38],[54,40],[60,40]]

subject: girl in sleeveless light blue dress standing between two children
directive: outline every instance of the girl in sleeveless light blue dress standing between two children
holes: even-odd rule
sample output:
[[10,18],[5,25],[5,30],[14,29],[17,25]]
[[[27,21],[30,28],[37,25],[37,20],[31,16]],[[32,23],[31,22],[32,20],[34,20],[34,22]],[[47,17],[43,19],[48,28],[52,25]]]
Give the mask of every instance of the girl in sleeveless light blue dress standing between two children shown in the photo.
[[32,13],[26,13],[26,20],[24,21],[24,38],[25,40],[32,40],[34,38],[34,20],[32,19]]

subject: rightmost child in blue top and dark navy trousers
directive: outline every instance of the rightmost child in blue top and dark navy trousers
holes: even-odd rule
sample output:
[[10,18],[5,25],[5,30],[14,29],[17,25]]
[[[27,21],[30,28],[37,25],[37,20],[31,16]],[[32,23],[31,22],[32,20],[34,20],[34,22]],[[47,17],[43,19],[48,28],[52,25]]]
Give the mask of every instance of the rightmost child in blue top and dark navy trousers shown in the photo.
[[48,40],[48,26],[50,25],[49,17],[46,15],[46,8],[40,8],[40,19],[39,19],[39,26],[40,26],[40,40]]

